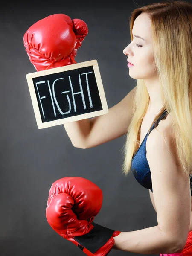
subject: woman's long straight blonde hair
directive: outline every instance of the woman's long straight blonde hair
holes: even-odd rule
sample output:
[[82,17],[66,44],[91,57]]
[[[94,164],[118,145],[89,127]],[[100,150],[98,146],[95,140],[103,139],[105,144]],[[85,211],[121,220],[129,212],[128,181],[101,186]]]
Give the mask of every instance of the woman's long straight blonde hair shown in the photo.
[[[167,114],[171,112],[178,157],[186,174],[192,175],[192,4],[169,0],[134,9],[129,20],[131,41],[134,20],[142,12],[148,13],[151,18],[154,64],[164,102],[154,119],[155,128],[163,111],[166,110]],[[140,126],[148,105],[149,94],[145,82],[137,79],[134,114],[122,148],[125,154],[122,173],[125,175],[131,171],[132,157],[140,145]]]

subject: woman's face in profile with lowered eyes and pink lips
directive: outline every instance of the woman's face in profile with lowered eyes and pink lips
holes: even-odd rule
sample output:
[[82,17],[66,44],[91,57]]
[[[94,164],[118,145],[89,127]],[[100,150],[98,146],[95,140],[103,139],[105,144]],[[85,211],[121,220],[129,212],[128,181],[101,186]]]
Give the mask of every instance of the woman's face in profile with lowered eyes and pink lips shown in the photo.
[[[129,75],[134,79],[151,79],[157,76],[152,55],[151,20],[142,12],[134,21],[133,41],[123,50],[128,62],[134,64],[129,68]],[[137,36],[142,37],[137,38]]]

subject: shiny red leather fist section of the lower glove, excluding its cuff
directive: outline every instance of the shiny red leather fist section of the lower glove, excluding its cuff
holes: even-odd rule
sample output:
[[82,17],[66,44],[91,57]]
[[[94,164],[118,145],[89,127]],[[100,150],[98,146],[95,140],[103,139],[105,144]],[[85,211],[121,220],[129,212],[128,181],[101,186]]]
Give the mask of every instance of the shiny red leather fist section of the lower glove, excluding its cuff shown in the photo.
[[102,199],[102,190],[90,180],[56,180],[49,190],[47,221],[64,238],[87,234],[93,228],[91,222],[102,207]]

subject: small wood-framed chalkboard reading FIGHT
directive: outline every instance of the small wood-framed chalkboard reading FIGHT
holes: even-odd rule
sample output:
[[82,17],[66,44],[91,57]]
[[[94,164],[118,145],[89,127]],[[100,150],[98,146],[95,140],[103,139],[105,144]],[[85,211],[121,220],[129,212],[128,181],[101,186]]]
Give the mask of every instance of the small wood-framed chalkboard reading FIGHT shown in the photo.
[[39,129],[108,113],[96,60],[26,75]]

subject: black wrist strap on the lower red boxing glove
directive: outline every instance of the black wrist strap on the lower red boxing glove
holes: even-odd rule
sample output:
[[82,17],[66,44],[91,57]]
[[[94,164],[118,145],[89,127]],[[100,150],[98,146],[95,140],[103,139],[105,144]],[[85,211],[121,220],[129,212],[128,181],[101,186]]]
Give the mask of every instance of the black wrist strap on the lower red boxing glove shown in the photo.
[[95,253],[107,243],[115,230],[100,226],[94,222],[92,222],[91,224],[94,227],[89,233],[83,236],[76,236],[73,239],[82,245],[82,247],[81,245],[78,245],[81,250],[86,248],[91,253]]

